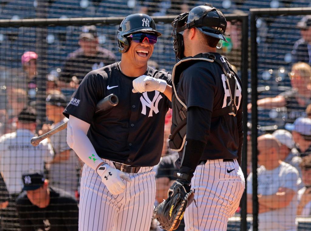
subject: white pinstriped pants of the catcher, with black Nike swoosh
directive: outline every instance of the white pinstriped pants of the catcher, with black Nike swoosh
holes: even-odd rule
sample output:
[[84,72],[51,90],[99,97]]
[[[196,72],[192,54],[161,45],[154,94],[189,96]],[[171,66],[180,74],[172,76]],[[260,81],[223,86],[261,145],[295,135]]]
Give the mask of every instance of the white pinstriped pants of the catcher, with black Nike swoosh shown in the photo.
[[208,160],[197,166],[191,185],[197,206],[191,203],[185,211],[185,231],[227,230],[245,187],[238,162]]

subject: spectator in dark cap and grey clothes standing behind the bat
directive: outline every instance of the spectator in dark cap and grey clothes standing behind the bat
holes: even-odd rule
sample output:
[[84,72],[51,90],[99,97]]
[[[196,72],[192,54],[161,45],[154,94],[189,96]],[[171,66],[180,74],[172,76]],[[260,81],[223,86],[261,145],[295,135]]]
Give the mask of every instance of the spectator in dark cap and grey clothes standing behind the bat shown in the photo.
[[[53,121],[51,129],[68,121],[63,116],[67,106],[66,97],[63,94],[50,94],[46,98],[46,115]],[[79,183],[79,160],[76,153],[69,148],[66,142],[67,128],[49,137],[55,156],[49,163],[49,182],[55,188],[61,188],[75,197]]]

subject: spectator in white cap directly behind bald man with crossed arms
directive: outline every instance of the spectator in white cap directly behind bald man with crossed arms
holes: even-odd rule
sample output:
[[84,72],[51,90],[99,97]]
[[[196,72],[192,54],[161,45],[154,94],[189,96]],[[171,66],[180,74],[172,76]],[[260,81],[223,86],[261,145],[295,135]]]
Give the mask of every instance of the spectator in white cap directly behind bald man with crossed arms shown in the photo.
[[281,143],[280,146],[280,160],[285,163],[294,166],[301,177],[301,170],[299,164],[301,163],[301,157],[298,150],[295,148],[295,142],[292,134],[284,129],[276,130],[272,135]]

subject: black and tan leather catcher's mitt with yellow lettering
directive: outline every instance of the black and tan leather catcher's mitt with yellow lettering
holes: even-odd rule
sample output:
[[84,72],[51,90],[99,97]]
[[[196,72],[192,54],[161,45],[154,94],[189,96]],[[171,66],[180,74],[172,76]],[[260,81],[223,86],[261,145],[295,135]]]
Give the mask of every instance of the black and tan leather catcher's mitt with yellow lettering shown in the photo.
[[168,198],[153,210],[153,217],[160,222],[161,228],[175,230],[193,198],[194,194],[189,185],[175,181],[169,188]]

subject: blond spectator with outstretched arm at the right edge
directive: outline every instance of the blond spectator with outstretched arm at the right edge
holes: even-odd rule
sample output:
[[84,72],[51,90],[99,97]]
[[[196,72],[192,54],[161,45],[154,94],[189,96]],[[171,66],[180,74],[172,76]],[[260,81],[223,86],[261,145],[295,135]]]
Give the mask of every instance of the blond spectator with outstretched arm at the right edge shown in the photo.
[[[311,67],[306,63],[295,63],[290,72],[291,90],[276,97],[259,99],[257,106],[265,109],[286,107],[286,123],[293,123],[300,116],[305,116],[306,107],[311,103]],[[252,104],[248,104],[248,111]]]

